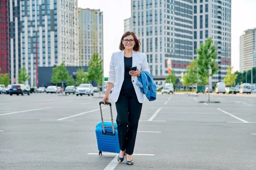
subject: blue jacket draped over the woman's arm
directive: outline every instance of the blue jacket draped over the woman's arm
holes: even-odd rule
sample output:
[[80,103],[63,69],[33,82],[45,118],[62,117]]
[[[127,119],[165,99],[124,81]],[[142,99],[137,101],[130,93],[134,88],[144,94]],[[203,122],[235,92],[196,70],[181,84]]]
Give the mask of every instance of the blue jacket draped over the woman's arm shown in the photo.
[[140,91],[146,95],[149,101],[154,101],[157,98],[157,86],[149,72],[142,71],[136,85],[140,87]]

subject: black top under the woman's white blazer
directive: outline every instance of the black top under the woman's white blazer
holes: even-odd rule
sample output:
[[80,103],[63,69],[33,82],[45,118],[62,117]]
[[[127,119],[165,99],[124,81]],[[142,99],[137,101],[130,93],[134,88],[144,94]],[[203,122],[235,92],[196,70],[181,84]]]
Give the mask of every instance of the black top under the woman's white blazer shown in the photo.
[[124,61],[125,61],[125,77],[124,77],[124,82],[122,84],[122,89],[131,89],[131,88],[134,88],[131,82],[131,75],[129,74],[129,71],[132,67],[132,57],[125,57]]

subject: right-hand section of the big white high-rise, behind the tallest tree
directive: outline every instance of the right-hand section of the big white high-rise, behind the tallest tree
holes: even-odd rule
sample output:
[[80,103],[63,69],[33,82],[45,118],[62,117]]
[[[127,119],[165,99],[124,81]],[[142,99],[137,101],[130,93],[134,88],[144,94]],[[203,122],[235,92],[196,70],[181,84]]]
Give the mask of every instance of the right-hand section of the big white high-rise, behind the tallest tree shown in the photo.
[[212,82],[223,81],[227,74],[227,66],[231,65],[231,0],[194,0],[193,4],[193,45],[194,57],[201,42],[212,37],[216,45],[219,67],[212,76]]

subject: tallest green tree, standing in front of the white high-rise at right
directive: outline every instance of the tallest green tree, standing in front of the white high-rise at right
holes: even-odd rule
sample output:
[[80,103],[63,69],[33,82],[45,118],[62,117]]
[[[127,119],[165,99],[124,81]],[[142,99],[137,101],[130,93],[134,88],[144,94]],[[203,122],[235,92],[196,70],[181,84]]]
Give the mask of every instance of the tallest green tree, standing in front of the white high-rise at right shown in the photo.
[[[213,76],[218,71],[215,59],[218,56],[216,45],[212,45],[212,37],[209,37],[205,44],[201,43],[200,48],[196,49],[198,53],[197,66],[201,82],[205,83],[209,76]],[[210,87],[210,85],[209,85]],[[208,96],[210,101],[210,93]]]

